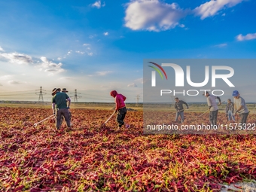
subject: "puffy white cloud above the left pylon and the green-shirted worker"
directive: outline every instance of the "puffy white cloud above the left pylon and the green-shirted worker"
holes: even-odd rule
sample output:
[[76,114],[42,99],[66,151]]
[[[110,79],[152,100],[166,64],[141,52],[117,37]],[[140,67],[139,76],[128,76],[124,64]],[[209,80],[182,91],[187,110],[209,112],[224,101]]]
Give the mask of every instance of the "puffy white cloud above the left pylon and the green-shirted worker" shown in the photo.
[[59,62],[58,64],[49,61],[45,56],[41,56],[41,64],[38,66],[40,71],[47,72],[49,75],[55,75],[60,72],[65,72],[62,69],[62,63]]

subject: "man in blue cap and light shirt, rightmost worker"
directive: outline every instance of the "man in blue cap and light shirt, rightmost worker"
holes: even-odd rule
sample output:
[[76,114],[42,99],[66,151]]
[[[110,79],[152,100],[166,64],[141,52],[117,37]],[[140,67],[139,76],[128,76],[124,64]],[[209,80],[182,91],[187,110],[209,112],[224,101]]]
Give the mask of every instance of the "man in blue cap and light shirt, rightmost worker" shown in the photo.
[[234,103],[234,112],[233,115],[236,113],[239,114],[239,123],[246,123],[249,111],[245,104],[245,99],[243,99],[237,90],[233,91],[233,103]]

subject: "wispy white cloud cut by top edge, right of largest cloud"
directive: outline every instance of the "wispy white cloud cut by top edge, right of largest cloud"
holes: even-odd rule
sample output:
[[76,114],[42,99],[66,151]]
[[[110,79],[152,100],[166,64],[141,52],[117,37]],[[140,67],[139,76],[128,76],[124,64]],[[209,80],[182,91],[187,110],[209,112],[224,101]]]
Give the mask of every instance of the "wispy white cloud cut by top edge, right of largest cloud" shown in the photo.
[[196,15],[201,16],[201,20],[203,20],[206,17],[214,16],[221,9],[231,8],[242,1],[243,0],[212,0],[195,8],[194,12]]

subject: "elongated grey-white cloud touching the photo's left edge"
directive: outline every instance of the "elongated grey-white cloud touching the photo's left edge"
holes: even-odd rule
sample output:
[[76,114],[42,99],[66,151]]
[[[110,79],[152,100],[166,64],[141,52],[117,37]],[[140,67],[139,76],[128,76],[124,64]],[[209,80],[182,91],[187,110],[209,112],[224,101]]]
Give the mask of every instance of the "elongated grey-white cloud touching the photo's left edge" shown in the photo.
[[32,57],[21,53],[0,53],[0,58],[8,59],[9,62],[17,64],[32,63]]

